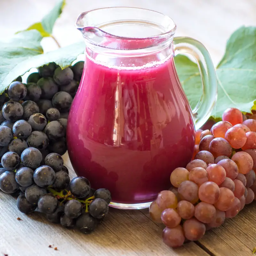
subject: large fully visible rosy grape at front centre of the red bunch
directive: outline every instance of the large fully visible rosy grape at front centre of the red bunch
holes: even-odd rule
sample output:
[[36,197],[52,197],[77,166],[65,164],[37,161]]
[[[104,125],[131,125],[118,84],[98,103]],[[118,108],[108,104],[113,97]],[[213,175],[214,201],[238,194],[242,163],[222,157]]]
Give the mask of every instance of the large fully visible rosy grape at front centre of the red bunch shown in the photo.
[[215,204],[220,198],[220,188],[216,183],[207,181],[200,186],[198,196],[205,203]]

